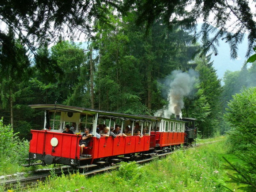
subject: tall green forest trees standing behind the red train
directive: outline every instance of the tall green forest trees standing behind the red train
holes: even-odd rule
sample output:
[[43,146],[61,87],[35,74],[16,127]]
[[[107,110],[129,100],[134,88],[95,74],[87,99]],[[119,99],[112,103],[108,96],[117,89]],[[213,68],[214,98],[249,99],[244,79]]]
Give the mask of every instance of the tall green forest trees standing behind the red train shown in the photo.
[[[158,10],[162,15],[159,18],[156,18],[155,13],[151,15],[154,17],[151,23],[147,21],[150,15],[144,15],[145,21],[138,24],[143,14],[128,6],[133,1],[124,1],[124,5],[119,7],[113,2],[101,2],[101,9],[97,3],[100,1],[93,4],[98,8],[96,12],[93,7],[87,7],[92,14],[89,16],[94,19],[84,16],[84,20],[79,23],[81,15],[73,15],[74,26],[57,23],[58,16],[62,19],[69,16],[53,14],[55,20],[45,22],[54,21],[54,26],[67,27],[67,31],[64,33],[58,28],[63,33],[55,35],[50,33],[54,30],[51,27],[42,27],[41,30],[48,30],[48,36],[46,32],[38,31],[38,28],[33,29],[36,23],[30,20],[30,16],[39,17],[39,13],[27,12],[29,17],[26,22],[31,22],[31,25],[26,25],[26,22],[21,23],[13,18],[7,20],[11,6],[19,12],[20,19],[25,19],[22,12],[28,11],[25,7],[17,8],[15,4],[8,7],[7,2],[6,6],[1,5],[1,22],[7,23],[5,31],[1,31],[0,44],[0,116],[4,124],[11,124],[14,133],[18,133],[20,138],[29,139],[30,129],[42,129],[44,117],[42,112],[34,111],[28,105],[53,104],[55,101],[63,105],[128,114],[161,115],[159,110],[170,110],[167,117],[172,118],[174,112],[170,109],[170,94],[178,89],[189,89],[187,93],[181,94],[182,109],[179,113],[183,117],[198,119],[200,137],[210,138],[229,130],[229,125],[223,120],[227,102],[240,90],[255,86],[255,63],[251,67],[244,63],[241,71],[227,71],[223,78],[225,85],[222,86],[210,61],[211,55],[218,53],[214,43],[218,43],[216,35],[220,32],[217,32],[216,38],[209,38],[203,33],[207,29],[208,32],[213,30],[213,26],[202,26],[202,39],[199,41],[193,34],[195,25],[184,27],[182,23],[174,22],[174,19],[172,23],[166,22],[166,11]],[[147,3],[135,3],[134,6],[143,9],[143,6],[149,6]],[[41,8],[42,5],[36,6]],[[58,6],[65,7],[67,4]],[[185,11],[184,8],[182,11]],[[4,9],[7,12],[3,12]],[[66,9],[67,14],[72,12]],[[177,10],[178,7],[175,7],[172,11]],[[42,10],[41,14],[45,16],[46,13]],[[181,13],[176,14],[178,18]],[[37,25],[42,25],[40,22]],[[60,19],[60,22],[64,20]],[[194,21],[191,23],[195,24]],[[84,28],[78,29],[78,26]],[[249,25],[246,26],[248,31],[252,30]],[[72,30],[72,27],[78,31]],[[24,35],[21,29],[29,29],[30,32]],[[74,31],[76,33],[70,35]],[[238,32],[232,36],[237,41],[242,38],[243,31]],[[225,34],[225,38],[229,38],[227,31]],[[76,41],[80,35],[84,35],[83,42],[86,43]],[[224,34],[221,35],[224,38]],[[230,41],[235,41],[232,38]],[[252,37],[249,35],[248,38]],[[212,41],[208,48],[207,39]],[[86,49],[82,46],[84,44]],[[235,57],[236,44],[230,46],[230,50]],[[179,75],[183,73],[189,74],[190,79],[179,80]]]

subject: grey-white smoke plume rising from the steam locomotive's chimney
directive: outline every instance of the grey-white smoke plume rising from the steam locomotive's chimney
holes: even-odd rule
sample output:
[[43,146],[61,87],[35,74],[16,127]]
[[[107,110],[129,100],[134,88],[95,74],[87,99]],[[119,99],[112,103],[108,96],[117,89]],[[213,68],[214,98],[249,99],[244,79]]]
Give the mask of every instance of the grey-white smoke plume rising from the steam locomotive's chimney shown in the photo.
[[167,87],[168,104],[163,109],[158,110],[154,116],[170,118],[172,114],[180,115],[181,109],[184,107],[183,99],[192,94],[197,72],[190,69],[187,72],[173,71],[170,76],[165,79]]

